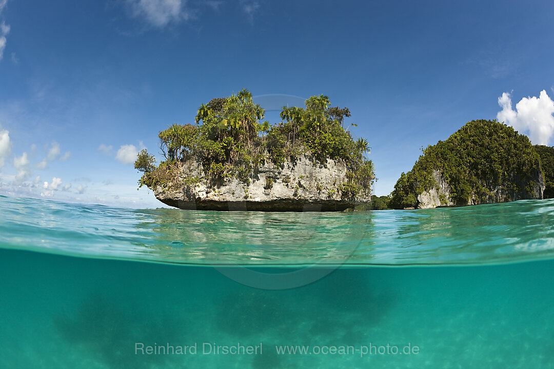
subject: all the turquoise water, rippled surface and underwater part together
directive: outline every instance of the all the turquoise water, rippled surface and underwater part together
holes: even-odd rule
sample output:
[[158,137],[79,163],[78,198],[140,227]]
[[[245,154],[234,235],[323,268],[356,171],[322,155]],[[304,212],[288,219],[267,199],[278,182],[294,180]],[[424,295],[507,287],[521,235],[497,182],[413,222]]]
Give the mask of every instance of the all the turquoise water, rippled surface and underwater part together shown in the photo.
[[[0,367],[553,368],[553,217],[552,200],[288,214],[0,196]],[[214,353],[238,342],[261,354]]]

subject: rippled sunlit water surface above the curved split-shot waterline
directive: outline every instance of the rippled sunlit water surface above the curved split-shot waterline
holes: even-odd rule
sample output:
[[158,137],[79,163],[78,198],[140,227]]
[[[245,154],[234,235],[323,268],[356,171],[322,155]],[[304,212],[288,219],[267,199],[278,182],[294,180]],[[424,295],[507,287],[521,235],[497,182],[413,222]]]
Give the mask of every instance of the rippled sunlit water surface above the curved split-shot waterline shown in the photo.
[[134,210],[0,196],[0,247],[179,264],[490,264],[554,257],[554,200],[369,212]]

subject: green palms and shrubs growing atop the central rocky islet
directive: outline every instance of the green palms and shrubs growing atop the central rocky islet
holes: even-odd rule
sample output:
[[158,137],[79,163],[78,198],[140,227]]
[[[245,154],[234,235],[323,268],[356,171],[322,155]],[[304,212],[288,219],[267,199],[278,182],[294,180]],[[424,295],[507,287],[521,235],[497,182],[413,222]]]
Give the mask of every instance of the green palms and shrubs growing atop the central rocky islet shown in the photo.
[[[346,164],[347,181],[337,184],[342,198],[369,193],[375,173],[364,153],[370,146],[366,139],[352,139],[345,128],[348,108],[331,107],[329,97],[320,95],[307,99],[305,107],[283,107],[280,116],[283,120],[277,124],[264,121],[263,108],[248,90],[214,98],[199,107],[195,124],[173,124],[160,132],[165,160],[159,165],[146,150],[139,153],[135,162],[143,172],[139,185],[178,187],[205,180],[217,188],[232,179],[248,185],[260,165],[271,162],[281,167],[307,155],[324,167],[327,159]],[[181,173],[190,159],[202,164],[202,178]],[[271,185],[273,179],[266,179],[266,188]]]

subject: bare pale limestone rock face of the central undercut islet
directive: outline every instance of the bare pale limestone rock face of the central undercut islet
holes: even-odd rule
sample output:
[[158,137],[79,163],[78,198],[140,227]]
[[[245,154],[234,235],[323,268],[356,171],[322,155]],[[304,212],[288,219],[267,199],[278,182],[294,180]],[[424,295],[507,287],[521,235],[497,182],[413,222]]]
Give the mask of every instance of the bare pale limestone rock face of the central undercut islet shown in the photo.
[[307,155],[283,168],[273,163],[260,165],[250,184],[233,178],[219,187],[204,178],[202,164],[189,161],[181,168],[182,179],[197,178],[191,185],[154,189],[156,198],[180,209],[340,211],[371,201],[371,191],[358,198],[343,199],[339,186],[347,182],[346,164],[327,160],[314,163]]

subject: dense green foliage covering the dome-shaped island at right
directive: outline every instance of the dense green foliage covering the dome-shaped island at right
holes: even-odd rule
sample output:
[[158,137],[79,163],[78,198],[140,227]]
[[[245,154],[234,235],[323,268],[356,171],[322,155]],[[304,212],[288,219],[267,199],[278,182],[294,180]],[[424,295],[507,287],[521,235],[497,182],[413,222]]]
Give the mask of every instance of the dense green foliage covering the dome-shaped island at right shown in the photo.
[[417,196],[437,186],[433,170],[439,170],[450,185],[447,203],[467,205],[491,196],[491,188],[524,192],[538,166],[538,155],[527,136],[496,120],[471,121],[446,141],[423,150],[408,173],[402,173],[392,192],[391,207],[417,207]]

